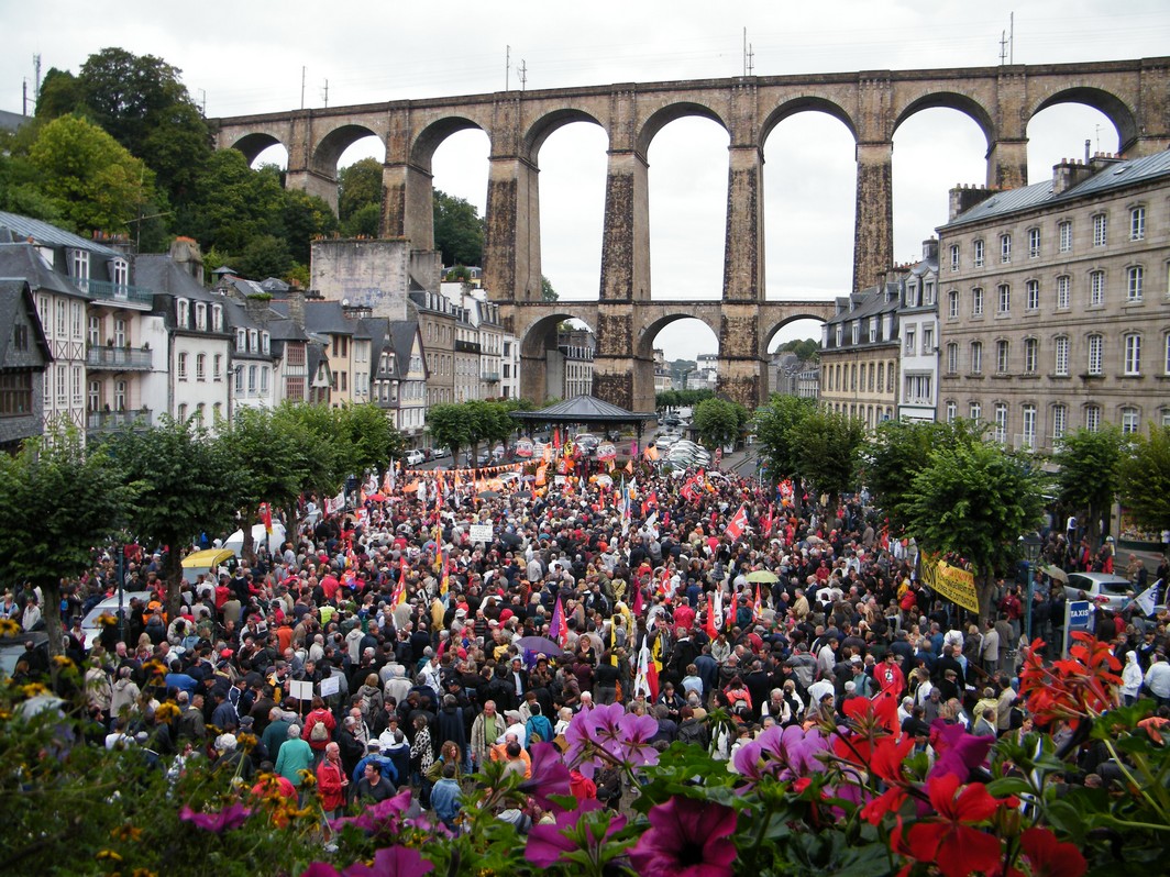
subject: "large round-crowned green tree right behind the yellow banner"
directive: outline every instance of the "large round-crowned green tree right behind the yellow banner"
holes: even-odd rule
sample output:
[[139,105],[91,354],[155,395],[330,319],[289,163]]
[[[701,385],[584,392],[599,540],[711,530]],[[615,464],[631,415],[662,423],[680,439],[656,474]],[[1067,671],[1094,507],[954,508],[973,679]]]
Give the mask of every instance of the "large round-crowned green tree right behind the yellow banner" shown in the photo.
[[1017,541],[1040,524],[1042,474],[998,444],[940,448],[910,482],[906,520],[932,554],[957,554],[982,580],[980,615],[991,607],[997,572],[1019,555]]

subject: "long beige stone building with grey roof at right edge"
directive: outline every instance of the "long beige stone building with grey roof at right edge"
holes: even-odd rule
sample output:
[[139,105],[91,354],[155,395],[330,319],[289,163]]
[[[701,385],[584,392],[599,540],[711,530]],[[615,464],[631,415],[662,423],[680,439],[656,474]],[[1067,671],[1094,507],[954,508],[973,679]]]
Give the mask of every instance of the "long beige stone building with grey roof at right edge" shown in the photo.
[[1046,453],[1170,423],[1170,152],[954,189],[938,233],[942,419]]

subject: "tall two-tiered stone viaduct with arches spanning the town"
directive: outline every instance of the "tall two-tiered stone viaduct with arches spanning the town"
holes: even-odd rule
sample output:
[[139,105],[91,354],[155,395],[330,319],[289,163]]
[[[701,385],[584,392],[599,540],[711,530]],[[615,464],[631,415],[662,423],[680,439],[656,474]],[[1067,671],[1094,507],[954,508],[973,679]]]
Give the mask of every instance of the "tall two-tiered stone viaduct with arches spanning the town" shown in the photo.
[[[238,149],[249,161],[283,144],[288,184],[335,206],[338,158],[352,143],[378,137],[386,149],[381,232],[410,240],[415,249],[434,248],[435,150],[456,131],[482,129],[491,144],[483,283],[521,339],[525,393],[543,378],[543,351],[555,343],[556,322],[579,317],[598,338],[594,394],[653,410],[651,347],[672,320],[697,317],[715,331],[721,388],[755,405],[766,393],[766,346],[776,331],[791,319],[831,313],[826,302],[764,297],[763,156],[780,122],[798,112],[826,112],[856,141],[853,288],[859,289],[892,264],[893,137],[902,122],[936,106],[968,115],[986,137],[987,185],[1012,188],[1027,182],[1028,120],[1060,103],[1103,112],[1127,157],[1170,149],[1170,57],[503,91],[221,118],[215,124],[218,146]],[[715,302],[651,299],[647,154],[654,136],[686,116],[715,120],[730,139],[723,290]],[[538,157],[553,131],[574,122],[600,125],[610,145],[600,296],[596,303],[545,304]]]

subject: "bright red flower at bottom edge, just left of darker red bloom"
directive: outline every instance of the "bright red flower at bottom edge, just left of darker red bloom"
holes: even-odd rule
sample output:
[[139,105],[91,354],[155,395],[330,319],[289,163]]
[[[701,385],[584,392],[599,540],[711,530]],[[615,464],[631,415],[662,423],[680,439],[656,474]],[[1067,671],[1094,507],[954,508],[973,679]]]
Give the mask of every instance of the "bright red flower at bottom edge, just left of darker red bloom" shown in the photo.
[[916,822],[904,835],[899,819],[893,835],[899,852],[932,863],[943,877],[985,873],[999,865],[999,838],[970,826],[986,822],[1005,802],[992,797],[978,783],[962,790],[959,785],[955,775],[929,780],[927,794],[937,817]]

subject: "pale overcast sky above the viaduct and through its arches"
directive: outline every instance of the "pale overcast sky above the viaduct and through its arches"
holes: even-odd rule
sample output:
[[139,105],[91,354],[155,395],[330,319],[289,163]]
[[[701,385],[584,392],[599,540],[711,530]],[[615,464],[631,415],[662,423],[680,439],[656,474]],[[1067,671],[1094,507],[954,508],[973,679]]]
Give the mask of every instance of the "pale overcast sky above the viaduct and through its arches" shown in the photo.
[[[42,74],[76,72],[105,47],[157,55],[183,70],[209,117],[329,104],[481,94],[521,88],[597,85],[738,76],[744,28],[756,75],[989,65],[1016,9],[1016,63],[1058,63],[1170,54],[1170,2],[1028,0],[834,0],[827,4],[355,2],[205,0],[0,0],[0,109],[21,110],[33,90],[33,55]],[[505,64],[511,47],[510,69]],[[507,77],[507,78],[505,78]],[[1028,129],[1031,181],[1051,177],[1065,156],[1114,151],[1108,120],[1085,106],[1038,115]],[[727,212],[725,131],[680,119],[649,150],[652,279],[655,298],[717,298]],[[569,125],[539,154],[544,274],[562,298],[596,299],[601,250],[606,140],[600,129]],[[947,191],[984,182],[986,144],[975,123],[927,110],[894,138],[894,255],[916,258],[947,219]],[[355,144],[350,164],[384,154],[377,140]],[[461,132],[435,156],[434,184],[482,213],[488,140]],[[281,154],[264,158],[283,161]],[[853,139],[821,113],[801,113],[765,146],[768,297],[831,298],[848,291],[853,264]],[[797,325],[787,337],[819,334]],[[780,339],[777,339],[776,344]],[[695,320],[658,338],[668,359],[714,352],[715,337]]]

